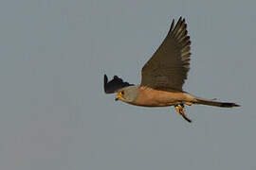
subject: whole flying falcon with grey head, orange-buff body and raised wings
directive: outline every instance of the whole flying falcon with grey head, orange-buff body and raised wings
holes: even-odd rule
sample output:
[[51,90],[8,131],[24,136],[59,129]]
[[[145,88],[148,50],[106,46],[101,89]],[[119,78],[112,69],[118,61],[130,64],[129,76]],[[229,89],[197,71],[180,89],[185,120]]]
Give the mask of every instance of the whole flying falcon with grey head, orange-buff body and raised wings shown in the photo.
[[119,76],[108,81],[104,75],[105,93],[117,93],[116,100],[143,107],[168,107],[174,109],[185,120],[192,122],[185,114],[185,105],[209,105],[232,108],[239,105],[230,102],[209,100],[184,92],[182,86],[190,70],[191,41],[185,19],[179,18],[155,51],[155,54],[141,70],[140,85],[124,82]]

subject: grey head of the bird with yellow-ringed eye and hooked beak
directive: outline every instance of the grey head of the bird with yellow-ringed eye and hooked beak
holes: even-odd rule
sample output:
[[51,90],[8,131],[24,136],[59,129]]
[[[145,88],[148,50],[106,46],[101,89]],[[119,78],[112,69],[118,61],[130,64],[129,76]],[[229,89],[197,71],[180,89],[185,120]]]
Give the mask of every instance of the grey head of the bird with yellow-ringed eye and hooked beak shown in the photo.
[[138,87],[128,86],[118,91],[116,101],[121,100],[126,103],[133,103],[137,99]]

